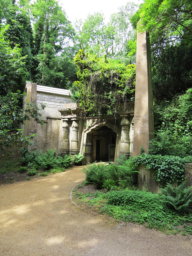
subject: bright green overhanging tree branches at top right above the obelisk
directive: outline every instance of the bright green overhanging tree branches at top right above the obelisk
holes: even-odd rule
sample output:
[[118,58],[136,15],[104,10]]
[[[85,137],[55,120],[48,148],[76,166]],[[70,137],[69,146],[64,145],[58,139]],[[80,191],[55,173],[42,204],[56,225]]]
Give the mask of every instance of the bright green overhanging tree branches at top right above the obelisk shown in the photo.
[[136,28],[141,20],[138,30],[151,32],[152,42],[156,44],[192,40],[191,6],[192,0],[144,0],[132,24]]

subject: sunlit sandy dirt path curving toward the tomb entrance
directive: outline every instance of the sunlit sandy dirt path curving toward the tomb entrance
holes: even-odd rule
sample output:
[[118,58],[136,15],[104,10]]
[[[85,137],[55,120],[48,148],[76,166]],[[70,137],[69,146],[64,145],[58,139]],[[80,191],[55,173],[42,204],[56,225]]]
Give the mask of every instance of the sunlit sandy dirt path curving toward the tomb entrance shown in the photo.
[[70,202],[84,173],[0,186],[1,256],[192,256],[192,240],[143,226],[119,226]]

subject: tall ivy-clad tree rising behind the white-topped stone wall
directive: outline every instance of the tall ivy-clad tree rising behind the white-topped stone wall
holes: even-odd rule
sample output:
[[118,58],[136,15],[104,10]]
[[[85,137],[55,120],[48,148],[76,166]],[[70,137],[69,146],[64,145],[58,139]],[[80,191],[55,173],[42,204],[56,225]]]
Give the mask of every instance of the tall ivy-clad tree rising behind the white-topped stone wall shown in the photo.
[[[32,5],[34,38],[36,45],[36,82],[46,86],[59,87],[64,82],[60,64],[60,53],[67,38],[72,38],[74,30],[66,18],[64,10],[55,0],[37,0]],[[63,85],[65,88],[66,85]]]

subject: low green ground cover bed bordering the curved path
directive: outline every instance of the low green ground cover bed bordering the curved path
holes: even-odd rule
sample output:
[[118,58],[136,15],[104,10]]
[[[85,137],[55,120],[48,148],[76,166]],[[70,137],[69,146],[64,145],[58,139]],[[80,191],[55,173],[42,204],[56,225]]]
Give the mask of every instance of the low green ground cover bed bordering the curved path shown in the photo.
[[[106,194],[78,193],[75,195],[86,205],[97,206],[99,212],[108,214],[116,220],[144,224],[166,233],[192,234],[192,214],[182,215],[167,208],[161,194],[147,191],[110,191]],[[182,228],[181,228],[182,225]]]

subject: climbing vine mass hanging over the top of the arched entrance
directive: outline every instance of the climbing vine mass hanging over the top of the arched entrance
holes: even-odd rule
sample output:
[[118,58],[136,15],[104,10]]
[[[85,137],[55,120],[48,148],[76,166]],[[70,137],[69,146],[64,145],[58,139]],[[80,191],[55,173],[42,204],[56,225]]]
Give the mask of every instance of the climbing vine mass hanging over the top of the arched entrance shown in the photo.
[[118,113],[120,103],[126,105],[135,91],[136,67],[79,50],[74,58],[78,81],[72,88],[72,98],[85,116]]

